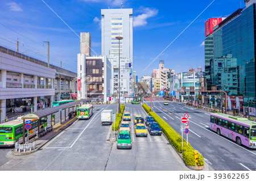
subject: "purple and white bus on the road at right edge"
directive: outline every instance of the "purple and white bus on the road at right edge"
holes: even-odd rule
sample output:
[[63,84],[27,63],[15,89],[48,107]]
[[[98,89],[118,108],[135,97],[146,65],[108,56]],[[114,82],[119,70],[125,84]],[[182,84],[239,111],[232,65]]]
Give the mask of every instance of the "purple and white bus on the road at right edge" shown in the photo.
[[210,114],[210,129],[236,141],[238,145],[245,145],[256,149],[256,122],[239,116],[224,113]]

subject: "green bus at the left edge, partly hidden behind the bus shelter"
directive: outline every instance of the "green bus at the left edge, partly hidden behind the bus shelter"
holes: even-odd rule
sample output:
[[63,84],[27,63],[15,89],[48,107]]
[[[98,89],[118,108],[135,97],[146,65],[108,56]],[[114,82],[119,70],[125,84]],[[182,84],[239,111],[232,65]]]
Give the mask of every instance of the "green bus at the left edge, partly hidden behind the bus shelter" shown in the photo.
[[[29,137],[32,137],[38,131],[38,121],[40,121],[40,131],[47,127],[47,117],[42,117],[40,120],[31,120],[31,128],[28,130]],[[27,136],[27,130],[25,131]],[[0,146],[14,146],[16,142],[23,138],[23,120],[22,117],[18,119],[7,121],[0,124]]]

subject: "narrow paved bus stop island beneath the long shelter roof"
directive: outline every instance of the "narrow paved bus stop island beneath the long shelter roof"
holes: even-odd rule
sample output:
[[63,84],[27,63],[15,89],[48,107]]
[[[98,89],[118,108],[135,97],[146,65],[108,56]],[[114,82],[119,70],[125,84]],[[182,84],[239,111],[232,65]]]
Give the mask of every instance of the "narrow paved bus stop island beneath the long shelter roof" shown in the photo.
[[56,137],[58,134],[60,134],[64,129],[67,129],[69,126],[71,126],[75,121],[77,120],[76,116],[63,121],[62,124],[58,124],[53,126],[53,129],[51,132],[48,132],[46,134],[44,134],[44,136],[38,137],[36,138],[33,137],[30,139],[31,142],[35,141],[35,149],[31,150],[31,151],[27,151],[24,153],[23,150],[16,151],[16,149],[14,148],[13,150],[13,154],[14,155],[27,155],[27,154],[31,154],[34,153],[35,151],[40,150],[44,145],[47,144],[47,142],[51,141],[54,137]]

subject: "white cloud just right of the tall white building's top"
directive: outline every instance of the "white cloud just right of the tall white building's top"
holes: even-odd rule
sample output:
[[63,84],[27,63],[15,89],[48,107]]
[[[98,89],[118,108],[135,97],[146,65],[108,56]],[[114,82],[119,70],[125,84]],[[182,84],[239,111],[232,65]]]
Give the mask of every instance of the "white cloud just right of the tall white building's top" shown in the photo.
[[150,9],[149,7],[142,8],[140,11],[143,13],[141,15],[134,16],[133,27],[146,25],[148,18],[151,18],[158,14],[158,10]]

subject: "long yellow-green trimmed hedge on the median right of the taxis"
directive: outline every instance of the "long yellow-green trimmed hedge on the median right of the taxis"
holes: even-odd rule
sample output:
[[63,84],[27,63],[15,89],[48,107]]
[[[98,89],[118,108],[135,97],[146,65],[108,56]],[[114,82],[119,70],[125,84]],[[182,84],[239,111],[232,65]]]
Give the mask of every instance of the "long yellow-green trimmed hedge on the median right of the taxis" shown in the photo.
[[[154,117],[155,121],[159,124],[160,128],[162,128],[162,132],[166,135],[170,143],[174,146],[174,148],[181,153],[183,151],[183,159],[187,165],[195,166],[195,154],[193,147],[183,139],[183,147],[182,147],[182,138],[179,133],[177,133],[169,124],[166,123],[161,117],[159,117],[155,112],[150,112],[150,107],[146,104],[142,104],[144,110],[148,113],[148,115]],[[198,166],[204,165],[203,155],[198,154]]]

